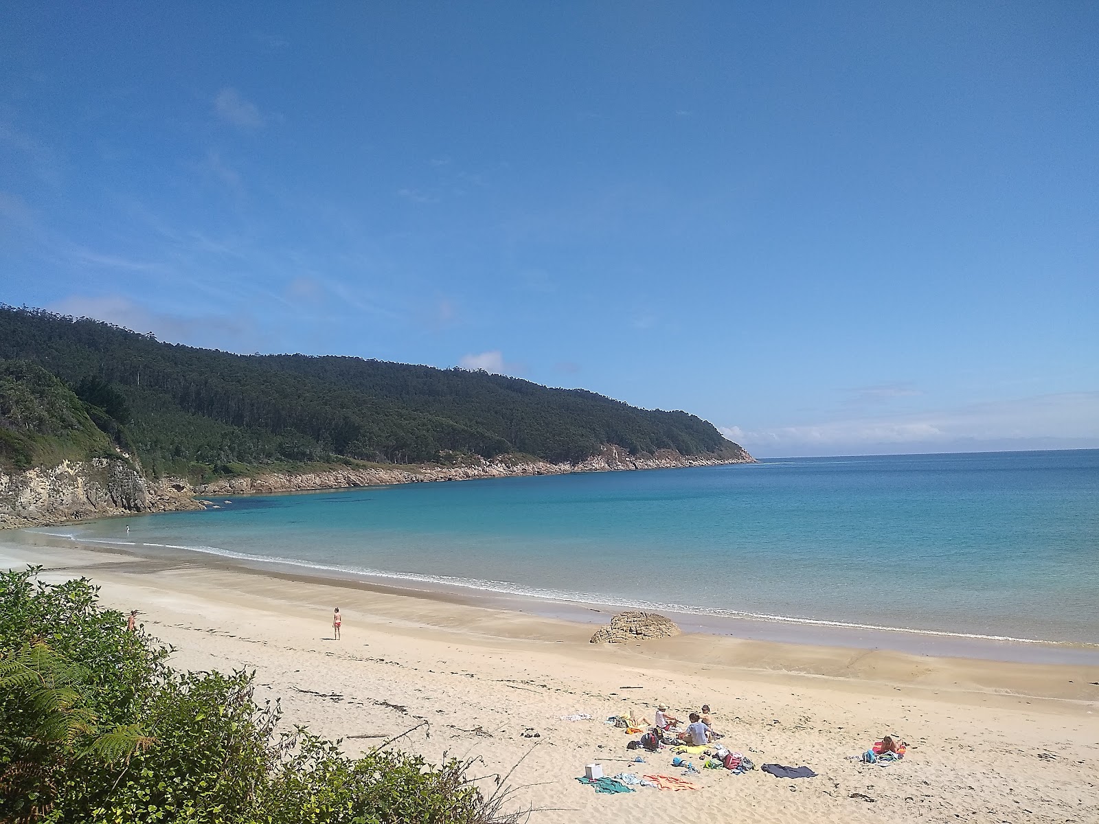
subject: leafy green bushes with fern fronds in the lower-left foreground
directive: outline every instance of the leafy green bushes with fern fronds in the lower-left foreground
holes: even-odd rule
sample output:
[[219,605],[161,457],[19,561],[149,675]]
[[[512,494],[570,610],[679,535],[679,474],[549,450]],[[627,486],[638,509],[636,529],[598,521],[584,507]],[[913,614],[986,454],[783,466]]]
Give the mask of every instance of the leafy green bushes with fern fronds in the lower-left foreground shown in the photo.
[[[0,572],[0,821],[491,824],[467,764],[276,735],[252,676],[187,672],[86,579]],[[506,793],[504,793],[506,795]]]

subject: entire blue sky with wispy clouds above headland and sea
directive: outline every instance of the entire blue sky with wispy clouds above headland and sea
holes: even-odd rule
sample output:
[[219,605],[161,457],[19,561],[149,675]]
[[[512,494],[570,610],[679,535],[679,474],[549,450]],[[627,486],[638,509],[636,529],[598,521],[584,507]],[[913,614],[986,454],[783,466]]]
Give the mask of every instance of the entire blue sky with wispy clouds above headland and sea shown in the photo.
[[1099,446],[1097,44],[1089,2],[7,3],[0,300],[758,455]]

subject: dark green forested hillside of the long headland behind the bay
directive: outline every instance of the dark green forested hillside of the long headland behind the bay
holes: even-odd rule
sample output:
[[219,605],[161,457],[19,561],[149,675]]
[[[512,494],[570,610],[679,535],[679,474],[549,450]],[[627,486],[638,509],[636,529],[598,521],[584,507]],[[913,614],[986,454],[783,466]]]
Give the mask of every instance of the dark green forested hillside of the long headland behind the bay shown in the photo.
[[[155,475],[507,453],[576,463],[604,444],[631,455],[746,456],[695,415],[579,389],[355,357],[234,355],[42,310],[0,305],[0,359],[19,361],[5,375],[32,364],[59,378]],[[0,431],[16,428],[0,411]]]

